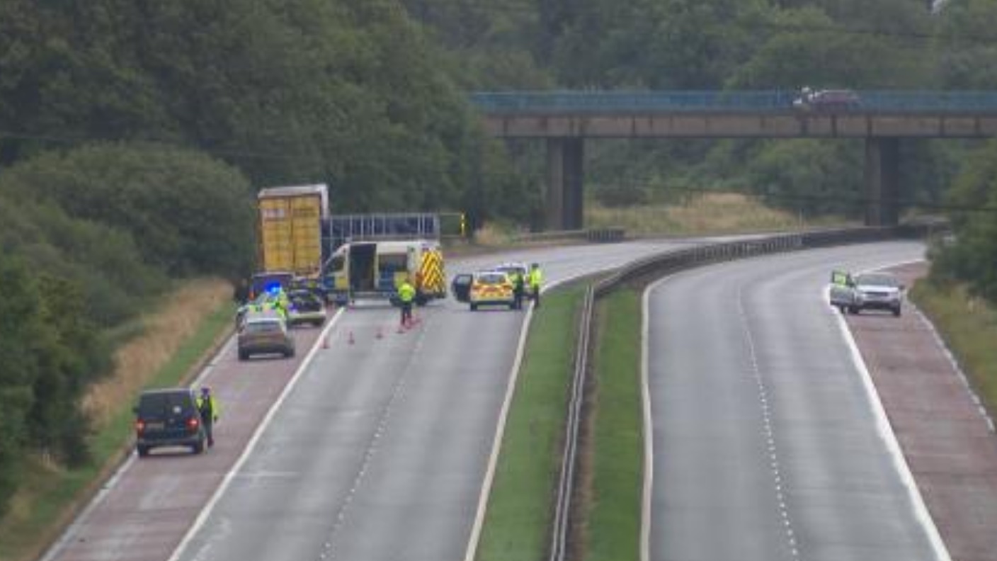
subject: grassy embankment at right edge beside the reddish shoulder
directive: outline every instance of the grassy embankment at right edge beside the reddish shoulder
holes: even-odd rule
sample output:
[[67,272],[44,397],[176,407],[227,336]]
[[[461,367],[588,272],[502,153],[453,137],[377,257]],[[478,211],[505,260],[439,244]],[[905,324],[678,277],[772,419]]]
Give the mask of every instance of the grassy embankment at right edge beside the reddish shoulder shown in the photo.
[[910,296],[945,339],[990,414],[997,414],[997,308],[962,286],[930,281],[914,283]]

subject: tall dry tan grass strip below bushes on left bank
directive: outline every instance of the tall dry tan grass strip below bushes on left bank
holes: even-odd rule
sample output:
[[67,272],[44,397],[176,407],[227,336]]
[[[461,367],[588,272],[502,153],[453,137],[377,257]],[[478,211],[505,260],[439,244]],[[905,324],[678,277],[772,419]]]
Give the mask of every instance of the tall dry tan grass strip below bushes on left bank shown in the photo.
[[114,371],[91,386],[83,398],[84,410],[95,428],[105,426],[120,409],[166,364],[205,315],[231,297],[228,281],[201,279],[185,282],[141,318],[142,334],[115,352]]

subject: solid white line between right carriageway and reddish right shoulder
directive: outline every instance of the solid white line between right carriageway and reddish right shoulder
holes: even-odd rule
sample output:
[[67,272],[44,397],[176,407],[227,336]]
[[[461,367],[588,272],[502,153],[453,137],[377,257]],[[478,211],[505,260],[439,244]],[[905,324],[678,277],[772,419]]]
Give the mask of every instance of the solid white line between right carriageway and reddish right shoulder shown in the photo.
[[[876,270],[890,269],[912,263],[920,263],[922,261],[924,260],[921,259],[898,262],[877,267]],[[823,291],[825,302],[829,301],[829,296],[830,286],[825,286]],[[876,429],[879,432],[879,437],[886,445],[886,449],[893,460],[893,467],[900,476],[900,481],[903,483],[903,486],[907,489],[907,496],[910,498],[911,506],[914,509],[914,517],[918,522],[920,522],[921,527],[924,529],[924,533],[927,534],[928,541],[931,543],[931,549],[934,550],[935,559],[938,561],[951,561],[952,558],[949,555],[948,548],[945,547],[945,543],[941,539],[941,534],[938,532],[938,527],[935,526],[934,519],[931,518],[931,513],[928,511],[927,505],[924,504],[924,498],[921,496],[920,489],[917,488],[917,482],[914,481],[914,475],[910,471],[910,465],[907,464],[907,459],[903,456],[903,450],[900,449],[900,443],[896,438],[896,433],[893,432],[893,426],[889,423],[889,417],[886,416],[886,409],[883,407],[882,400],[879,398],[879,392],[876,390],[875,384],[872,382],[872,376],[869,374],[868,368],[865,366],[865,360],[862,359],[861,351],[858,350],[858,345],[855,343],[854,337],[851,336],[851,330],[848,328],[847,321],[845,321],[844,316],[834,308],[831,308],[831,312],[834,314],[838,329],[841,331],[841,336],[844,338],[844,342],[848,346],[848,351],[851,354],[851,360],[854,362],[855,369],[858,370],[859,376],[862,379],[862,385],[865,388],[866,397],[868,398],[869,405],[872,407],[873,416],[875,417]]]

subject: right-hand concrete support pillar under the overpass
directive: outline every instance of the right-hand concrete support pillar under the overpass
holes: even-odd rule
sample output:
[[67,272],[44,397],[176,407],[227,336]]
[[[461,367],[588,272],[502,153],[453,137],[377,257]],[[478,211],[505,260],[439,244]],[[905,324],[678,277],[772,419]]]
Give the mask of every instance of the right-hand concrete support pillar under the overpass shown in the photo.
[[900,139],[865,139],[865,226],[896,226],[900,220]]

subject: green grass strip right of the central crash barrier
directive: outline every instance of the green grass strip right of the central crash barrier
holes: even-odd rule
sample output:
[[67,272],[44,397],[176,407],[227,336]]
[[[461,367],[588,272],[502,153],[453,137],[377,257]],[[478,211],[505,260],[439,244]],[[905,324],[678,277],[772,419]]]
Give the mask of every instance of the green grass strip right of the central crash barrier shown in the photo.
[[644,464],[640,292],[617,289],[597,301],[595,312],[576,558],[638,559]]

